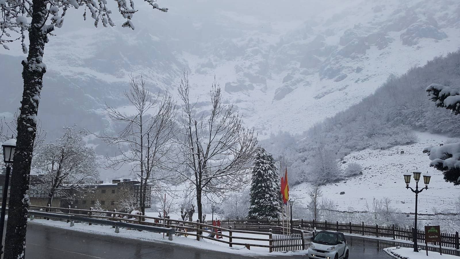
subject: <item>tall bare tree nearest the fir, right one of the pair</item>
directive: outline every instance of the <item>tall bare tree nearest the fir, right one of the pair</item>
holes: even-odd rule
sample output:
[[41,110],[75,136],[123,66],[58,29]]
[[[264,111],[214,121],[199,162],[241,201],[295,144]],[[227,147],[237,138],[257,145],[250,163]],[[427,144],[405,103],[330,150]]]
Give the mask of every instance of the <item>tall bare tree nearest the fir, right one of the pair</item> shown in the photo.
[[[255,156],[257,135],[244,128],[235,106],[224,105],[222,91],[214,78],[210,91],[210,111],[196,114],[190,100],[190,82],[184,71],[178,86],[182,101],[179,132],[176,135],[178,157],[175,170],[196,190],[198,219],[202,222],[202,197],[224,198],[240,192],[250,181],[249,169]],[[187,172],[191,171],[191,175]],[[216,194],[214,197],[210,197]]]

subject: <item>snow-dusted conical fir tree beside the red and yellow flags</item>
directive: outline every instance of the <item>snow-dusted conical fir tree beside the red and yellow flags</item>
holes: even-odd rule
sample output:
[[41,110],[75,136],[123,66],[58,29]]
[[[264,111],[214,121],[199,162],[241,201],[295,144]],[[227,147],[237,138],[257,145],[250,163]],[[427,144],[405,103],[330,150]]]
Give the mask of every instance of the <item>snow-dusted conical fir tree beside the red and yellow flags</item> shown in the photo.
[[252,171],[248,218],[279,218],[282,212],[281,183],[273,156],[258,147]]

